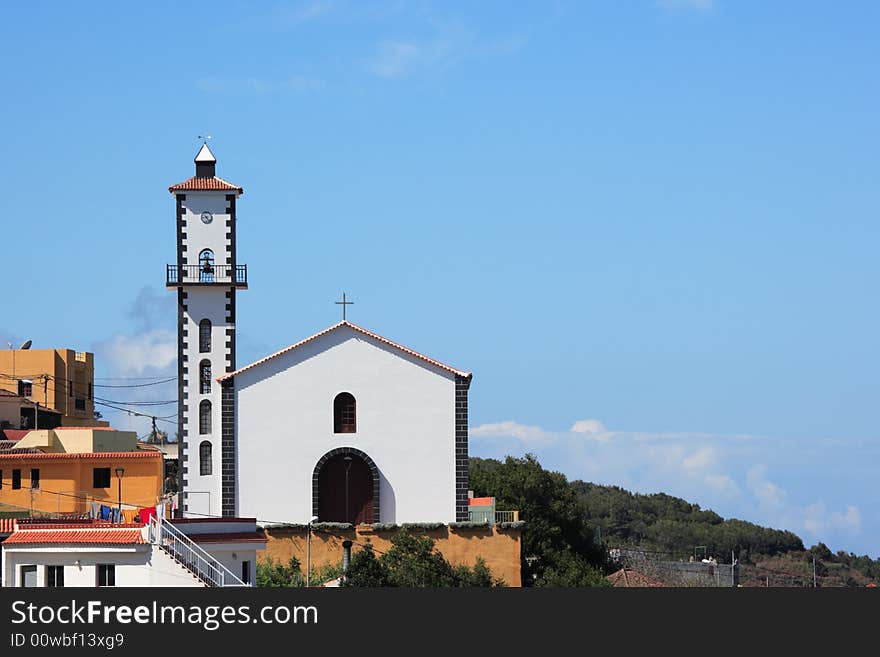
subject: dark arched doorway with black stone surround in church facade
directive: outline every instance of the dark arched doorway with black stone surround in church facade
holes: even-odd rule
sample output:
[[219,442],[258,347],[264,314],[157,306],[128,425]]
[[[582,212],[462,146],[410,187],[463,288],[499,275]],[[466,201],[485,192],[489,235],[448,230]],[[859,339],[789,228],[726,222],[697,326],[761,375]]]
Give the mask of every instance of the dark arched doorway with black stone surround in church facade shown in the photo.
[[312,477],[312,512],[320,522],[379,522],[379,470],[373,460],[353,447],[322,456]]

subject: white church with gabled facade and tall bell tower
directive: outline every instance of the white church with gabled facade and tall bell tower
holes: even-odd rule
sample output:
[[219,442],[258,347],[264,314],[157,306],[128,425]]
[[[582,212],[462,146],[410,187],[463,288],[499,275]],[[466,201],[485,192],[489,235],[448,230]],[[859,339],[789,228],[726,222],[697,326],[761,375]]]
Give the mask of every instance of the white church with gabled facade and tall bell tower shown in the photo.
[[472,375],[345,319],[238,367],[236,257],[244,190],[216,175],[169,187],[177,261],[178,412],[185,517],[354,524],[468,520]]

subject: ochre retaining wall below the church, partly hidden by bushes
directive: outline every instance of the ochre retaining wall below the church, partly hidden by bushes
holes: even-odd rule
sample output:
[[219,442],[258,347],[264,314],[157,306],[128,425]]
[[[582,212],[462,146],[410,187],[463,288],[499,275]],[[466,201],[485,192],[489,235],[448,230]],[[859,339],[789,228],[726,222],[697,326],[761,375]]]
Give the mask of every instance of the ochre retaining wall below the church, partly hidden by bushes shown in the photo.
[[[352,554],[369,541],[379,551],[387,551],[391,547],[391,538],[399,530],[374,531],[368,525],[360,525],[356,529],[338,531],[312,531],[311,562],[312,567],[342,563],[342,542],[354,542]],[[307,530],[298,527],[266,529],[266,549],[257,552],[257,560],[272,557],[276,561],[287,563],[290,557],[296,557],[302,564],[303,573],[306,566]],[[477,557],[482,557],[495,578],[504,580],[507,586],[522,586],[520,572],[521,530],[499,530],[497,527],[485,529],[441,529],[418,530],[423,536],[434,539],[436,548],[453,565],[465,564],[473,566]]]

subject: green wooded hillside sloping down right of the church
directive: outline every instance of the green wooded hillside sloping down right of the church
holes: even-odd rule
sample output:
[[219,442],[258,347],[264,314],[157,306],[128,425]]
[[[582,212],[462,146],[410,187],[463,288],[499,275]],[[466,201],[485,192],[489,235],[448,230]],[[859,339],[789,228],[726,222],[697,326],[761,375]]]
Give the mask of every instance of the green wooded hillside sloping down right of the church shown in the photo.
[[813,560],[819,586],[880,583],[880,559],[809,549],[797,534],[725,519],[698,504],[665,493],[642,495],[618,486],[569,482],[545,470],[530,454],[470,460],[470,487],[493,495],[498,509],[518,510],[523,528],[523,584],[584,586],[608,572],[608,548],[635,548],[658,559],[714,556],[741,566],[748,586],[810,586]]

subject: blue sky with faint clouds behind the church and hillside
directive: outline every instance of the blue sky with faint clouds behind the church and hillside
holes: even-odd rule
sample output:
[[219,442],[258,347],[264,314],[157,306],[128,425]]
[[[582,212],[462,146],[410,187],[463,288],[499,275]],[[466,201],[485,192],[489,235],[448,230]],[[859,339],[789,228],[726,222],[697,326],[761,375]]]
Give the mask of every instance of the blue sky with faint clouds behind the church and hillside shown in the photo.
[[880,556],[878,23],[855,1],[8,7],[0,344],[93,350],[105,385],[175,373],[166,188],[207,132],[245,188],[240,365],[345,290],[356,323],[475,373],[475,455]]

